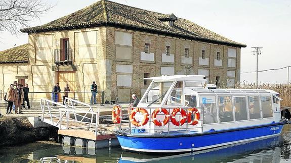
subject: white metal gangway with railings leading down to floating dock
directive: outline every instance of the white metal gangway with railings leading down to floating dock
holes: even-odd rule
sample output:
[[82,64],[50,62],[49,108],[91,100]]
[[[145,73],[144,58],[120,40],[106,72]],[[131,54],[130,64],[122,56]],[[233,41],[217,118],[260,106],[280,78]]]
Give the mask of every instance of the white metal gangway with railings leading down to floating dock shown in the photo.
[[90,130],[97,136],[99,110],[93,111],[90,104],[65,97],[66,104],[41,98],[41,121],[58,127],[59,130]]

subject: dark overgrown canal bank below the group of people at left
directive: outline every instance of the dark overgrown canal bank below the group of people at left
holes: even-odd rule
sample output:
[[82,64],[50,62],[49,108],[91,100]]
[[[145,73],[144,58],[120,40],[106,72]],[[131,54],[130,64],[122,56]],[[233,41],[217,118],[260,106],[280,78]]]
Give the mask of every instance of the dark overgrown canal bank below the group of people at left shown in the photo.
[[55,127],[33,128],[26,117],[0,118],[0,146],[57,139]]

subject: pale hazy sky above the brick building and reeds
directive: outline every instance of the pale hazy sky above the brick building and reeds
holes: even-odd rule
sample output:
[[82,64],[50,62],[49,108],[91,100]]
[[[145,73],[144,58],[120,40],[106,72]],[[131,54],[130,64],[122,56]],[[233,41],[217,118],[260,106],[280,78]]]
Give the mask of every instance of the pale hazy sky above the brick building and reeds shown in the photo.
[[[210,29],[234,41],[247,44],[241,49],[241,71],[255,71],[256,57],[252,46],[261,46],[259,70],[291,66],[291,1],[251,1],[251,0],[205,0],[205,1],[167,1],[167,0],[112,0],[117,3],[155,11],[174,13],[177,17],[188,19],[204,28]],[[51,1],[56,6],[40,21],[31,26],[42,25],[62,16],[85,8],[97,1]],[[11,48],[14,44],[28,42],[27,34],[19,36],[4,32],[0,34],[0,50]],[[241,81],[255,82],[256,73],[241,74]],[[291,81],[291,69],[290,79]],[[259,82],[286,83],[287,69],[259,73]]]

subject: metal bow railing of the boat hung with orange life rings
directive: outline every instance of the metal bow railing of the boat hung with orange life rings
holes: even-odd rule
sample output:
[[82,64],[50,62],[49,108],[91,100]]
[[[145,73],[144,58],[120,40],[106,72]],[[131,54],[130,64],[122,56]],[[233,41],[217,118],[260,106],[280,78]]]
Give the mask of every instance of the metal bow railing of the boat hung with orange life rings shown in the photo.
[[[131,112],[135,109],[135,108],[138,108],[138,107],[128,107],[128,116],[130,117],[131,115]],[[140,127],[137,127],[137,126],[134,126],[132,123],[131,123],[131,120],[129,120],[129,132],[130,134],[132,133],[140,133],[140,134],[167,134],[167,135],[170,135],[170,134],[190,134],[190,133],[196,133],[196,132],[202,132],[203,131],[203,113],[204,113],[204,107],[196,107],[197,110],[198,110],[198,114],[199,114],[199,120],[198,120],[198,124],[196,125],[191,125],[190,123],[191,122],[188,122],[188,115],[189,114],[186,114],[186,121],[183,125],[181,126],[175,126],[172,122],[171,122],[171,118],[169,120],[169,122],[164,125],[164,126],[156,126],[153,122],[153,119],[152,119],[152,114],[153,112],[157,109],[157,108],[153,108],[153,107],[142,107],[144,109],[147,110],[148,112],[148,122],[147,124],[145,124],[144,126],[140,126]],[[166,109],[169,113],[168,116],[173,116],[172,115],[172,112],[174,110],[174,108],[177,108],[177,107],[162,107],[164,109]],[[184,110],[186,113],[188,113],[188,110],[189,108],[191,107],[179,107],[181,108],[182,110]],[[162,113],[159,113],[160,115],[164,115]],[[158,115],[159,115],[158,114]],[[136,116],[138,115],[138,113],[136,114]],[[140,116],[142,116],[140,114]],[[177,121],[180,121],[181,120],[181,113],[178,112],[177,115],[176,115],[176,120]],[[179,118],[179,119],[178,119]],[[194,120],[195,118],[195,115],[194,117],[191,118],[191,120]],[[161,120],[163,121],[163,120]],[[149,124],[148,124],[149,123]],[[121,129],[121,123],[119,124],[119,129]],[[128,128],[127,128],[128,129]]]

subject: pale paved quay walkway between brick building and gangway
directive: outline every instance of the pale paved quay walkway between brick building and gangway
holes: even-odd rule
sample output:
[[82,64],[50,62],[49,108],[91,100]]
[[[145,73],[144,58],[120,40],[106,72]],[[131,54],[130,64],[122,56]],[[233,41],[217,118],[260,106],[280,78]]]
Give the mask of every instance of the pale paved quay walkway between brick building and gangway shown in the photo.
[[[119,103],[122,106],[122,110],[126,110],[128,108],[128,104],[129,103]],[[113,106],[115,106],[115,104],[94,104],[91,105],[91,107],[93,108],[94,112],[98,112],[98,110],[100,110],[100,115],[104,116],[104,115],[111,115],[112,112],[112,108]],[[61,108],[59,106],[52,106],[54,108]],[[82,106],[76,106],[76,107],[82,107]],[[86,110],[88,109],[88,107],[86,108]],[[3,116],[11,116],[11,117],[38,117],[38,116],[42,116],[42,112],[41,112],[41,108],[40,105],[36,105],[31,107],[30,109],[24,109],[22,110],[23,114],[6,114],[6,108],[5,108],[5,103],[2,103],[0,105],[0,111],[1,114]],[[14,113],[14,111],[12,111],[12,113]]]

